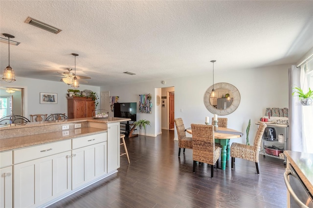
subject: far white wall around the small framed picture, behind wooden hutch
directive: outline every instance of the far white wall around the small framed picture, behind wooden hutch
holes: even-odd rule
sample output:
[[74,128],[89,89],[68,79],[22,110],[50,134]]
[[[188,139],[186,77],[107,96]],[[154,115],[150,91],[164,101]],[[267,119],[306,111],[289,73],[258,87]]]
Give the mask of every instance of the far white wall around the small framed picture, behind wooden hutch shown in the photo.
[[[67,114],[67,89],[68,85],[62,82],[53,82],[37,79],[17,77],[14,83],[1,82],[1,86],[25,88],[25,112],[24,115],[30,118],[31,114]],[[80,84],[80,91],[89,89],[100,95],[100,87]],[[40,104],[40,92],[49,92],[58,94],[57,104]],[[99,105],[100,106],[100,100]]]

